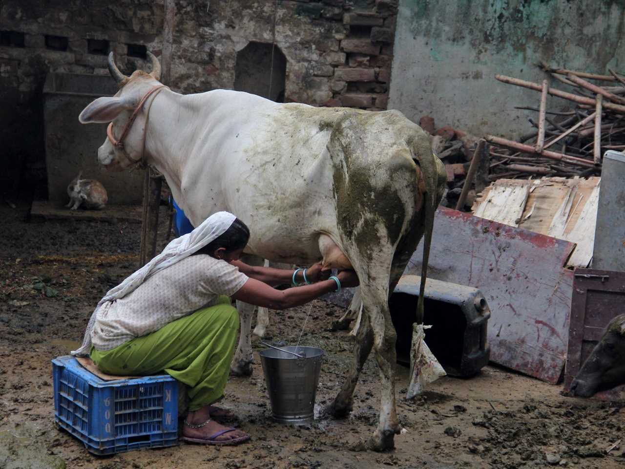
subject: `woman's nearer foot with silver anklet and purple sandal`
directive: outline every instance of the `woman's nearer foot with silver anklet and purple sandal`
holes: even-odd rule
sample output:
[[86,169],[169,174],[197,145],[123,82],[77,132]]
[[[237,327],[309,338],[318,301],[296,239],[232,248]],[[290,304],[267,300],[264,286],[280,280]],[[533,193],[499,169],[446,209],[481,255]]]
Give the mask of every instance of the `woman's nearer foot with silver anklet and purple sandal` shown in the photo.
[[231,426],[212,420],[210,406],[189,412],[183,425],[183,440],[206,445],[237,445],[249,440],[249,435]]

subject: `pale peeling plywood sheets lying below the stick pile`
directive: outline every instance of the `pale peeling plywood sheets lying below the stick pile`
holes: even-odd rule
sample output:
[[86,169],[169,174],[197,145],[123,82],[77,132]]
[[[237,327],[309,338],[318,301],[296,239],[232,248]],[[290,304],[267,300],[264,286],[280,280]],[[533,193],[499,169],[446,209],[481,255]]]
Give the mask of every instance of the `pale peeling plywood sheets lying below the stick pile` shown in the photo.
[[592,258],[601,178],[498,179],[479,194],[476,216],[576,243],[567,266]]

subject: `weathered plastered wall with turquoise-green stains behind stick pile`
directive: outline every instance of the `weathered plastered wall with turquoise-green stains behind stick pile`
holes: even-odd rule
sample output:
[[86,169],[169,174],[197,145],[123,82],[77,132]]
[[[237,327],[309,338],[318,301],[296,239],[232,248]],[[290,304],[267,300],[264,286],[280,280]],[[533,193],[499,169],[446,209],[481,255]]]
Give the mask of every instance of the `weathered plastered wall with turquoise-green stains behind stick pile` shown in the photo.
[[[547,78],[540,61],[623,71],[624,28],[619,0],[401,0],[389,108],[417,123],[429,114],[437,127],[519,136],[536,113],[514,106],[537,106],[539,93],[495,74],[540,82]],[[564,104],[549,99],[552,107]]]

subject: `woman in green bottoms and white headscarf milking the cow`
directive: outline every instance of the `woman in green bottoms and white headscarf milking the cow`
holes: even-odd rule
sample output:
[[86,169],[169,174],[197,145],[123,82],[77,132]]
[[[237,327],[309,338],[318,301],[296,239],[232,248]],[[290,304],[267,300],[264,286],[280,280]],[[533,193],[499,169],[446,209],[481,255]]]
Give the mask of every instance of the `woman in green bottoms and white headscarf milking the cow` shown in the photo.
[[[276,310],[356,286],[353,271],[336,276],[307,269],[252,267],[239,261],[249,229],[233,214],[215,213],[99,301],[83,345],[105,373],[153,375],[165,371],[189,386],[183,440],[234,445],[244,431],[221,425],[232,416],[213,404],[224,396],[239,316],[231,298]],[[292,283],[299,288],[276,290]]]

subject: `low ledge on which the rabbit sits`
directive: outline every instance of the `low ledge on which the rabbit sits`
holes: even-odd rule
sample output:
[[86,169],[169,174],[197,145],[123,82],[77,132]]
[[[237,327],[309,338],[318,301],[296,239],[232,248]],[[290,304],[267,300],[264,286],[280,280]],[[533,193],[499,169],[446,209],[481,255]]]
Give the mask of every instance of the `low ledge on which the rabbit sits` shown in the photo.
[[49,201],[34,201],[31,206],[31,218],[141,223],[141,206],[107,205],[103,210],[70,210]]

